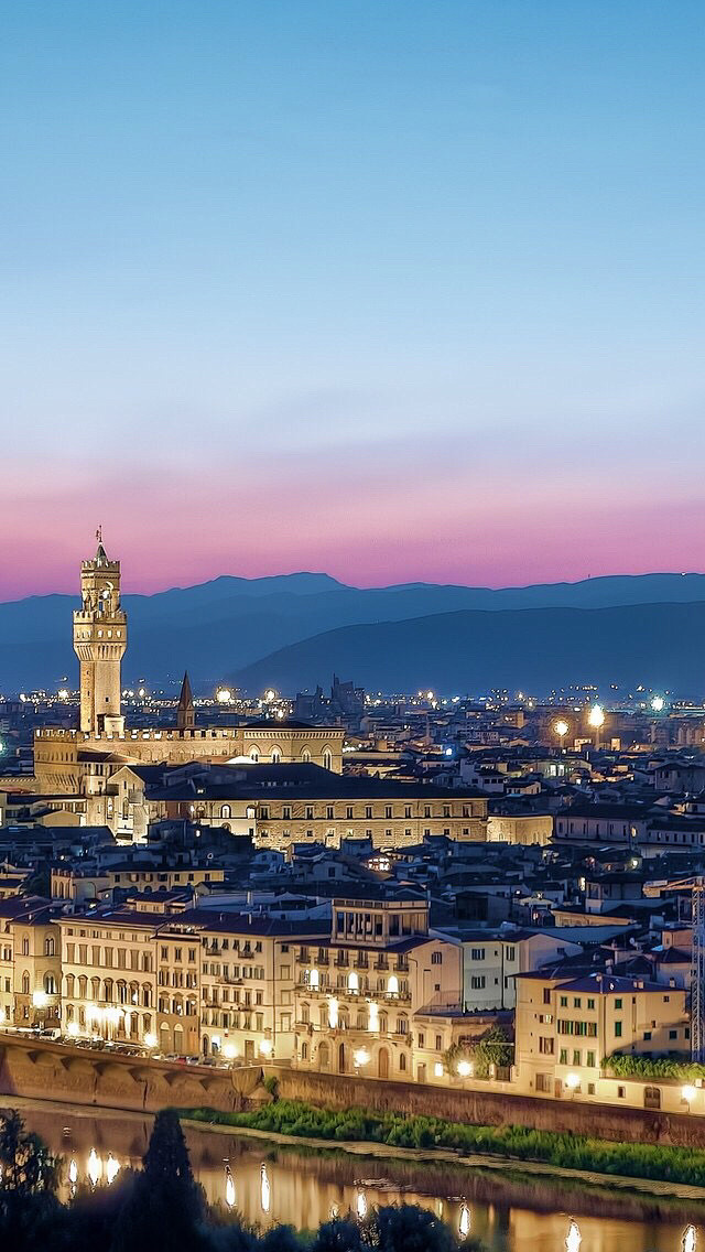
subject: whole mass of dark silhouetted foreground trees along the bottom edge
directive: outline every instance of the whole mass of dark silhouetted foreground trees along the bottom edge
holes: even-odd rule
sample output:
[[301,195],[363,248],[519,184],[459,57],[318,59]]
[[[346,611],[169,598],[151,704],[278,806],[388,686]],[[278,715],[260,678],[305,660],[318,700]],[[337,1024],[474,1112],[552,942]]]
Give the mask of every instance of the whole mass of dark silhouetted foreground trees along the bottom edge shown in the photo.
[[11,1252],[481,1252],[414,1204],[334,1217],[314,1232],[243,1223],[195,1182],[178,1116],[157,1114],[140,1171],[58,1197],[64,1163],[13,1112],[0,1121],[0,1243]]

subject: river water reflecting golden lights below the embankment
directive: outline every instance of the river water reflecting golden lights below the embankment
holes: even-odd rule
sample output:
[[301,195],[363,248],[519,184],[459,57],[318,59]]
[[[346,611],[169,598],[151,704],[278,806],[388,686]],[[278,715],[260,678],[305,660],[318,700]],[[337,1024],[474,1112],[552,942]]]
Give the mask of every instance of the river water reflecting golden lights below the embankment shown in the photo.
[[[71,1178],[106,1182],[139,1168],[152,1123],[119,1113],[18,1101],[26,1126],[60,1153],[63,1198]],[[187,1128],[195,1176],[212,1203],[248,1222],[312,1229],[333,1213],[373,1204],[432,1208],[491,1252],[705,1252],[705,1206],[637,1198],[512,1172],[278,1147]]]

